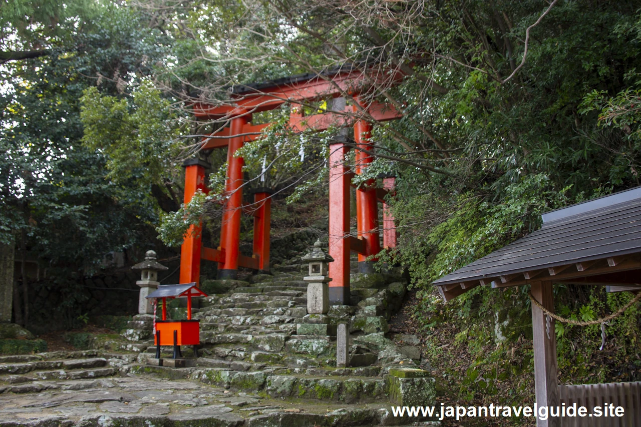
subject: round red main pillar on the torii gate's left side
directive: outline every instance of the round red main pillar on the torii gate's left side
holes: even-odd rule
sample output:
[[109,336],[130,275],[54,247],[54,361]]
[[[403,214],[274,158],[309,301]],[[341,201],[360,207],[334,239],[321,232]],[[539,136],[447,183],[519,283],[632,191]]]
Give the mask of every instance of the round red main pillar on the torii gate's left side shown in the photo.
[[243,126],[249,121],[249,115],[234,117],[231,119],[229,148],[227,151],[227,181],[225,183],[225,194],[227,204],[222,214],[221,225],[221,247],[225,251],[225,262],[219,264],[219,279],[238,278],[238,247],[240,245],[240,215],[242,213],[242,157],[235,157],[236,150],[243,146],[245,137]]

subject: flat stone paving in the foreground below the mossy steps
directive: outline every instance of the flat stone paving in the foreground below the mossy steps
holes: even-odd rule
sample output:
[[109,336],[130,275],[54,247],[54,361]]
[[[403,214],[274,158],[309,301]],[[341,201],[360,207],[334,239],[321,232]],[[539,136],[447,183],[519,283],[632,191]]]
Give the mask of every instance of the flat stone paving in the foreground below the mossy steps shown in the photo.
[[347,427],[415,422],[393,417],[388,405],[345,408],[338,403],[285,401],[196,381],[133,374],[43,383],[46,387],[39,392],[4,389],[0,426]]

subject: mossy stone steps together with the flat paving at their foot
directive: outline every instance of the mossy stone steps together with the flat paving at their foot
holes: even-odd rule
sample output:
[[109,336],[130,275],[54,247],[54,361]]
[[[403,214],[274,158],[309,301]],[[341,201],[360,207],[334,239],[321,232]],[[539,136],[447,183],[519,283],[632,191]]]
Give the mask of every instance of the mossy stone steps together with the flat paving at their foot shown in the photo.
[[413,336],[385,336],[403,283],[360,276],[354,305],[331,307],[331,322],[347,322],[351,333],[351,367],[337,369],[335,337],[297,330],[307,314],[302,276],[214,281],[226,292],[196,310],[203,345],[189,367],[148,363],[149,315],[100,349],[0,357],[0,427],[440,426],[391,412],[400,390],[421,402],[403,405],[434,400],[433,380],[406,369],[420,359]]

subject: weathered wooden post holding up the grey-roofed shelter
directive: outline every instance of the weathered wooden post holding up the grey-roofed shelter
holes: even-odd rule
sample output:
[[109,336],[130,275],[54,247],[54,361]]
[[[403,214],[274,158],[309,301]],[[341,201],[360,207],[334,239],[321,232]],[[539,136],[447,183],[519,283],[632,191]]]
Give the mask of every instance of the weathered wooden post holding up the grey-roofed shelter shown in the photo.
[[[554,313],[552,282],[534,281],[532,296]],[[556,333],[554,319],[547,321],[547,316],[536,305],[532,304],[532,332],[534,341],[534,383],[538,406],[560,406],[558,394],[558,373],[556,369]],[[537,427],[558,427],[558,418],[537,418]]]

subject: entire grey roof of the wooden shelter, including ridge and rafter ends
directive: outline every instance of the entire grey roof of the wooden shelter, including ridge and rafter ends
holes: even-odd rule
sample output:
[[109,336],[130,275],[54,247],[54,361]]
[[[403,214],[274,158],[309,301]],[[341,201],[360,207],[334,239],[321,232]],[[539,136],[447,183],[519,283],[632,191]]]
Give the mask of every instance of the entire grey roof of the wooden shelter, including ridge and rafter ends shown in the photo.
[[[641,187],[542,215],[543,226],[433,282],[445,301],[479,285],[531,280],[641,286]],[[635,270],[639,270],[635,272]]]

